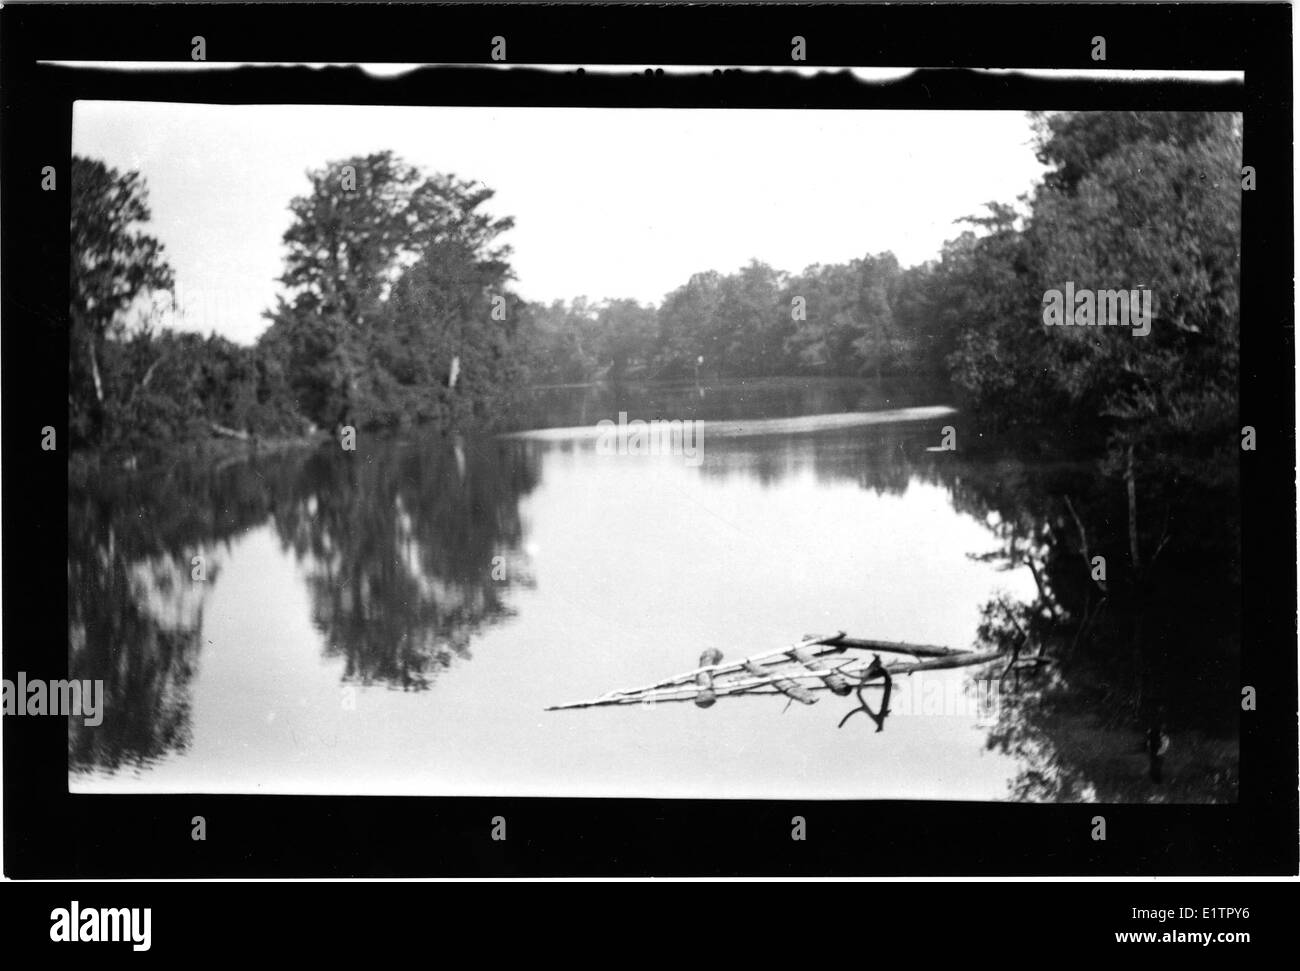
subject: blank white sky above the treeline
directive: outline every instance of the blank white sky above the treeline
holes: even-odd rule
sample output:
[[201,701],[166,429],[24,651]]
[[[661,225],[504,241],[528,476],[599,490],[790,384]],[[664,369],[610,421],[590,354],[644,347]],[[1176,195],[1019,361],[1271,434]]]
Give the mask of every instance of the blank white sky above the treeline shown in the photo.
[[954,220],[1041,175],[1023,112],[194,105],[78,101],[73,151],[138,169],[186,308],[243,343],[266,326],[306,172],[390,148],[497,190],[516,290],[658,303],[757,257],[797,272],[939,255]]

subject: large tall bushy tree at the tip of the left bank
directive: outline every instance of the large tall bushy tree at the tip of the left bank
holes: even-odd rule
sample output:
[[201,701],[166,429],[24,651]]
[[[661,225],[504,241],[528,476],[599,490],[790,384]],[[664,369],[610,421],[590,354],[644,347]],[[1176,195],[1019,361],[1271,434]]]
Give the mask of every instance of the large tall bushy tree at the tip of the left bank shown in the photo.
[[[391,152],[330,162],[308,179],[285,233],[287,296],[264,337],[287,356],[302,408],[337,426],[396,421],[416,395],[445,406],[439,386],[452,357],[471,372],[488,367],[467,361],[462,344],[503,354],[512,322],[493,298],[514,298],[504,291],[510,250],[497,237],[514,221],[481,211],[491,190],[425,175]],[[474,328],[482,339],[471,339]]]

